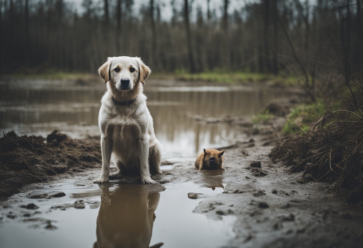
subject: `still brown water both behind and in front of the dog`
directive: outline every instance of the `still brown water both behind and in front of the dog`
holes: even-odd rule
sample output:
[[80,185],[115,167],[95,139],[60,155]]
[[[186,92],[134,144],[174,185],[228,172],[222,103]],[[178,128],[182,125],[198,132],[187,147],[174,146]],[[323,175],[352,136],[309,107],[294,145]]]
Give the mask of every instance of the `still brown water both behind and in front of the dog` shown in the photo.
[[[97,116],[104,91],[105,86],[95,83],[0,80],[0,132],[46,136],[58,129],[74,138],[99,135]],[[191,86],[167,81],[147,83],[144,92],[163,158],[174,161],[193,161],[203,148],[227,145],[240,135],[228,124],[205,124],[196,121],[196,116],[251,115],[270,100],[288,94],[266,86]],[[207,219],[193,213],[202,199],[187,197],[188,192],[203,197],[219,194],[223,182],[164,186],[165,191],[150,193],[145,185],[113,182],[99,186],[79,184],[72,178],[38,190],[62,191],[65,197],[44,200],[29,199],[28,193],[15,195],[8,202],[11,209],[5,208],[7,202],[0,208],[0,247],[160,247],[161,243],[163,248],[220,247],[233,239],[233,216]],[[84,209],[51,208],[79,199]],[[27,203],[39,208],[20,208]],[[30,217],[24,216],[29,213]]]

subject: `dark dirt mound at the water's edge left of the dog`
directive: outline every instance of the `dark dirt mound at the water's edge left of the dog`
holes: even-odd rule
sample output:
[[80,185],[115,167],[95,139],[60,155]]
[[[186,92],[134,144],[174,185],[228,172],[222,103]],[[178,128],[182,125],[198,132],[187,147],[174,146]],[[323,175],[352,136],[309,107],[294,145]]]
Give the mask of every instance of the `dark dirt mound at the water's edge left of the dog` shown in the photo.
[[101,161],[98,138],[73,140],[54,131],[45,139],[9,132],[0,138],[0,198],[52,175],[98,167]]

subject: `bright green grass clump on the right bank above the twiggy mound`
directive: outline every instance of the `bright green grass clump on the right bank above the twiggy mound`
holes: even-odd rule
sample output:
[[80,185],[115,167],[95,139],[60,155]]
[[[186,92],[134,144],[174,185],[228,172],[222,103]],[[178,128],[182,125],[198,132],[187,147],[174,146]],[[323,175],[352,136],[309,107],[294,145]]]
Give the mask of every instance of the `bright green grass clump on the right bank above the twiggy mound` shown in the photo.
[[[289,116],[287,116],[283,132],[285,134],[298,133],[303,134],[311,130],[317,120],[319,120],[325,113],[335,111],[339,108],[340,102],[336,102],[333,109],[329,109],[322,100],[318,100],[311,104],[302,104],[291,108]],[[330,119],[329,123],[335,119]]]

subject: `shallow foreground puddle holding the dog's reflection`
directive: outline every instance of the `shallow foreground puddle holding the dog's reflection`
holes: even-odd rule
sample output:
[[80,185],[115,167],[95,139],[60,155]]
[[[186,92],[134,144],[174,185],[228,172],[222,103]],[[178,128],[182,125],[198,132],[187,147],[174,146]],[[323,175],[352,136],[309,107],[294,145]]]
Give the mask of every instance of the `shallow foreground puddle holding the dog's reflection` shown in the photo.
[[[0,247],[149,247],[160,243],[163,248],[220,247],[233,239],[234,216],[212,220],[193,213],[203,198],[222,193],[223,184],[164,186],[166,190],[157,192],[160,186],[77,185],[74,179],[66,179],[32,192],[62,191],[65,197],[29,199],[29,193],[17,194],[4,202],[11,207],[0,211]],[[189,192],[200,194],[199,198],[189,199]],[[80,200],[85,208],[69,206]],[[29,203],[39,208],[20,207]],[[67,204],[65,210],[59,207]],[[16,218],[8,218],[9,212]]]

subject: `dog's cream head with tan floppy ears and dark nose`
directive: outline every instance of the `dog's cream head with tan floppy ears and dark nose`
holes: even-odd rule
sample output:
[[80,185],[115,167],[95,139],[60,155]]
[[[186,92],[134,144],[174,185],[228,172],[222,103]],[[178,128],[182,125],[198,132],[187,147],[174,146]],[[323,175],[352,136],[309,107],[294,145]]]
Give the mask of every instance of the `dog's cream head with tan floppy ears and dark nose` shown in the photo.
[[98,69],[99,75],[119,91],[132,90],[139,82],[142,84],[151,70],[138,57],[109,57]]

